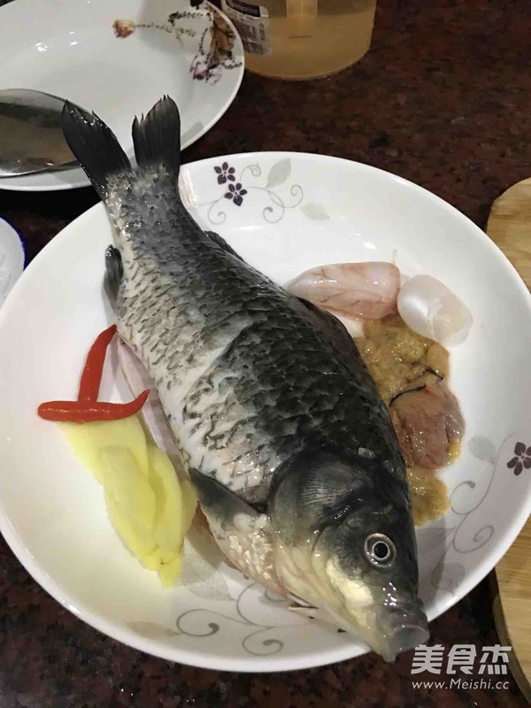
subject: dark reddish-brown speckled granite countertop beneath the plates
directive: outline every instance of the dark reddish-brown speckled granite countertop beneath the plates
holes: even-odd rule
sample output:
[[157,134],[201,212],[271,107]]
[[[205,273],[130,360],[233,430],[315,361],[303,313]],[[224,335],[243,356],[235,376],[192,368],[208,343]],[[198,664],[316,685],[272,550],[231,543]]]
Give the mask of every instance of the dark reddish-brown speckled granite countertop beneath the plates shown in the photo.
[[[417,182],[483,227],[496,196],[531,173],[530,36],[527,0],[379,0],[373,46],[358,65],[302,83],[246,74],[184,161],[248,150],[355,159]],[[30,258],[95,203],[92,189],[0,190],[0,216]],[[485,580],[432,623],[432,641],[498,643],[491,602]],[[0,708],[526,705],[513,681],[497,692],[412,689],[410,669],[411,655],[393,666],[369,654],[263,675],[145,656],[63,609],[0,540]]]

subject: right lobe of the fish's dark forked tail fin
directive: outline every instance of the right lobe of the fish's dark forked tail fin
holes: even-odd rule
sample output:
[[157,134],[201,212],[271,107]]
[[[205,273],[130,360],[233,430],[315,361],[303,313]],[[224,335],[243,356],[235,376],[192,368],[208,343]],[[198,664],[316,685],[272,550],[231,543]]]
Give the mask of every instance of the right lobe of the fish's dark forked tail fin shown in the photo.
[[181,165],[181,118],[169,96],[158,101],[147,116],[133,122],[133,144],[139,165],[164,165],[175,179]]

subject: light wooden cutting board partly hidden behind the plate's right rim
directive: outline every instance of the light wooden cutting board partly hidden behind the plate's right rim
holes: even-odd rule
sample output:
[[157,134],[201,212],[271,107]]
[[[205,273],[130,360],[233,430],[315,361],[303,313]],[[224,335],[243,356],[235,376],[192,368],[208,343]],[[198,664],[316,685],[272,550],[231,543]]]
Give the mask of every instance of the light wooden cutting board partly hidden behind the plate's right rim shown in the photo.
[[[531,289],[531,179],[514,184],[496,199],[487,233]],[[493,612],[498,635],[502,643],[512,645],[512,674],[531,703],[531,519],[496,566],[496,581]]]

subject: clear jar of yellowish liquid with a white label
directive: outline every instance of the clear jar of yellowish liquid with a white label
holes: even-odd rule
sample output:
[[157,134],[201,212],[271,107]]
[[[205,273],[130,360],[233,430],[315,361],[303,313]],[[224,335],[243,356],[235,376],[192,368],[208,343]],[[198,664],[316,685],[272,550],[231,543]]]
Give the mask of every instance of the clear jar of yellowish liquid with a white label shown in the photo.
[[279,79],[341,71],[371,44],[376,0],[221,0],[245,49],[245,65]]

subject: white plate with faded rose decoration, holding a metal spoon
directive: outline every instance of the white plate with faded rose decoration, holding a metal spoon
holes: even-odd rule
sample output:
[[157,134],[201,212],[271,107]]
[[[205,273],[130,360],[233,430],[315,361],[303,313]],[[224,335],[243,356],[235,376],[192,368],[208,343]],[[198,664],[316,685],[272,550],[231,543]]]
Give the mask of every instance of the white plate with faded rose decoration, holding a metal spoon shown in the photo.
[[[194,17],[172,19],[175,12]],[[211,45],[212,12],[228,23],[234,47],[232,58],[222,57],[200,78],[201,52]],[[118,38],[117,19],[148,27]],[[120,27],[127,34],[127,24]],[[222,42],[224,36],[216,33]],[[211,4],[194,10],[189,0],[17,0],[0,8],[0,89],[37,89],[95,111],[129,154],[135,113],[148,112],[164,94],[172,96],[186,148],[227,111],[242,76],[242,41]],[[88,184],[81,168],[0,179],[0,189],[21,191]]]

